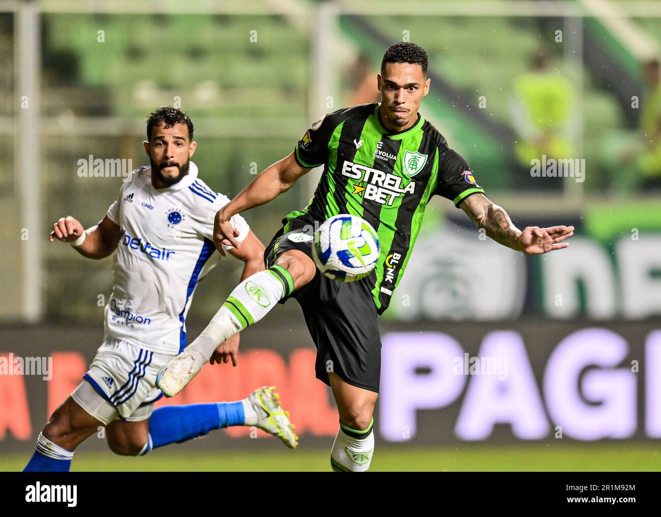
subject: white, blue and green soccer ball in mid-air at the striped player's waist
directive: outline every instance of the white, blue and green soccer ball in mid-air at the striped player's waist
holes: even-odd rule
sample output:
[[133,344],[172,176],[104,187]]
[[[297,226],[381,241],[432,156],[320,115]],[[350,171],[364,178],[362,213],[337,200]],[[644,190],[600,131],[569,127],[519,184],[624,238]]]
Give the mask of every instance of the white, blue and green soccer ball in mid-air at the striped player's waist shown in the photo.
[[340,282],[365,278],[379,259],[379,237],[360,217],[340,214],[327,219],[315,236],[312,256],[319,271]]

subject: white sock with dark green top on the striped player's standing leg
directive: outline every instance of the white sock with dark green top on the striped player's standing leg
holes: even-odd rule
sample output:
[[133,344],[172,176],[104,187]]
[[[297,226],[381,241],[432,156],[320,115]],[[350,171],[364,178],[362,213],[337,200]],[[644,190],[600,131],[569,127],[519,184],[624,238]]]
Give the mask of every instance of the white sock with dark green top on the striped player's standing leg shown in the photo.
[[[331,467],[336,472],[365,472],[374,454],[372,419],[366,431],[350,429],[340,422],[331,450]],[[349,436],[347,433],[352,434]]]

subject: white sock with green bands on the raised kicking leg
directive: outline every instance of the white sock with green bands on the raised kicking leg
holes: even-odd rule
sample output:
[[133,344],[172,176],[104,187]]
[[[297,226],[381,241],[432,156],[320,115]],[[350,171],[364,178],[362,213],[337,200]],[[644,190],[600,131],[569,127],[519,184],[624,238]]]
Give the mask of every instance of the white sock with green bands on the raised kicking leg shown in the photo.
[[227,301],[187,350],[198,351],[209,361],[220,343],[264,318],[292,291],[293,277],[281,265],[274,264],[251,275],[234,288]]

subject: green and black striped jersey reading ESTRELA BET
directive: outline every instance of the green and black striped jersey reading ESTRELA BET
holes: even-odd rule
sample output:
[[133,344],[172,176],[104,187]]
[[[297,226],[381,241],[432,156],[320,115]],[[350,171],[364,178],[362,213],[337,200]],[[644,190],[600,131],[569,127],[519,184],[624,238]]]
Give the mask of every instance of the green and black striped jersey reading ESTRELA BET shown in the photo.
[[373,226],[381,244],[372,289],[379,314],[407,267],[430,197],[442,195],[459,205],[484,192],[432,124],[418,114],[412,127],[391,133],[379,120],[379,103],[318,120],[297,143],[295,155],[303,167],[323,165],[324,171],[309,205],[286,219],[307,215],[325,221],[348,213]]

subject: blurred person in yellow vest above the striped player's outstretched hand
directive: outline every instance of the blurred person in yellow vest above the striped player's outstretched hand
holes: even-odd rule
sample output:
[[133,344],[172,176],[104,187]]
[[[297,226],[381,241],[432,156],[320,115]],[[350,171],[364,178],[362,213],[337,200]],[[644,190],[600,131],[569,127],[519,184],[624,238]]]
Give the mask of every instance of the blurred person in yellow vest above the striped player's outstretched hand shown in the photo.
[[[531,55],[531,71],[514,79],[511,112],[514,131],[518,134],[516,156],[522,168],[530,170],[531,160],[576,158],[571,143],[572,85],[550,67],[551,57],[545,50]],[[563,187],[559,178],[531,178],[524,174],[517,183],[535,188]],[[531,181],[534,180],[534,181]]]

